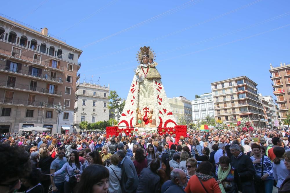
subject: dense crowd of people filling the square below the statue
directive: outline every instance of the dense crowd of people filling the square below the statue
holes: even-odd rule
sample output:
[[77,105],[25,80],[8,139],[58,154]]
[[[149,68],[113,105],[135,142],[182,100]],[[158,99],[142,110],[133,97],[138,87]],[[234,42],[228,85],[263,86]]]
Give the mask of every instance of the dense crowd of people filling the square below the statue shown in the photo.
[[0,192],[290,192],[284,130],[0,135]]

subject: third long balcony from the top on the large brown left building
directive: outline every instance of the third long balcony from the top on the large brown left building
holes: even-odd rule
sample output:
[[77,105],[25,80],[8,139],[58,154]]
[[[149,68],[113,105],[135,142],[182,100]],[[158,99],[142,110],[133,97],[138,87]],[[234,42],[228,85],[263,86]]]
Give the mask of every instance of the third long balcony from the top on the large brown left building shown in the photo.
[[18,90],[18,91],[24,91],[24,92],[30,92],[30,93],[39,93],[39,94],[46,94],[46,95],[52,95],[52,96],[62,96],[61,91],[40,88],[40,87],[32,87],[30,85],[16,84],[16,83],[7,82],[7,81],[0,81],[0,87],[10,89],[10,90]]

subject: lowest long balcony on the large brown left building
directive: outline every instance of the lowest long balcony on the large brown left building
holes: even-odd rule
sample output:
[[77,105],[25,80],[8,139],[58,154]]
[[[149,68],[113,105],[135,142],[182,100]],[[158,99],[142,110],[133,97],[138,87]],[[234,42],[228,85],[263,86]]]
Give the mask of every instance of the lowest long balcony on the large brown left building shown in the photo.
[[21,99],[13,99],[13,98],[0,98],[0,104],[10,104],[15,106],[33,106],[33,107],[43,107],[43,108],[51,108],[54,109],[54,105],[41,101],[31,101],[31,100],[21,100]]

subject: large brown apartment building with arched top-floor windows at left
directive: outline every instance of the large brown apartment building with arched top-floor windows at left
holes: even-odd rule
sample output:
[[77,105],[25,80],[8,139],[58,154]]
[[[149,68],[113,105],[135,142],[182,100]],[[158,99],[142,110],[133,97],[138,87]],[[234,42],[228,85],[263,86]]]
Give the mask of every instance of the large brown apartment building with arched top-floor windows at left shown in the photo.
[[[0,133],[30,126],[72,132],[81,53],[47,28],[0,14]],[[59,102],[66,109],[57,125]]]

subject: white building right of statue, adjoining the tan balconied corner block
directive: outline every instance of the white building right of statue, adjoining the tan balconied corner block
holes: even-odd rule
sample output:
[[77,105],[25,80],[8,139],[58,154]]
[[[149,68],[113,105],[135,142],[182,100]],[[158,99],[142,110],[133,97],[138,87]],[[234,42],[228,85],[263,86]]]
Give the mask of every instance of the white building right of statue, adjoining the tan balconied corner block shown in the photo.
[[213,117],[213,94],[204,93],[200,98],[191,101],[192,120],[196,124],[197,121],[204,120],[207,115]]

